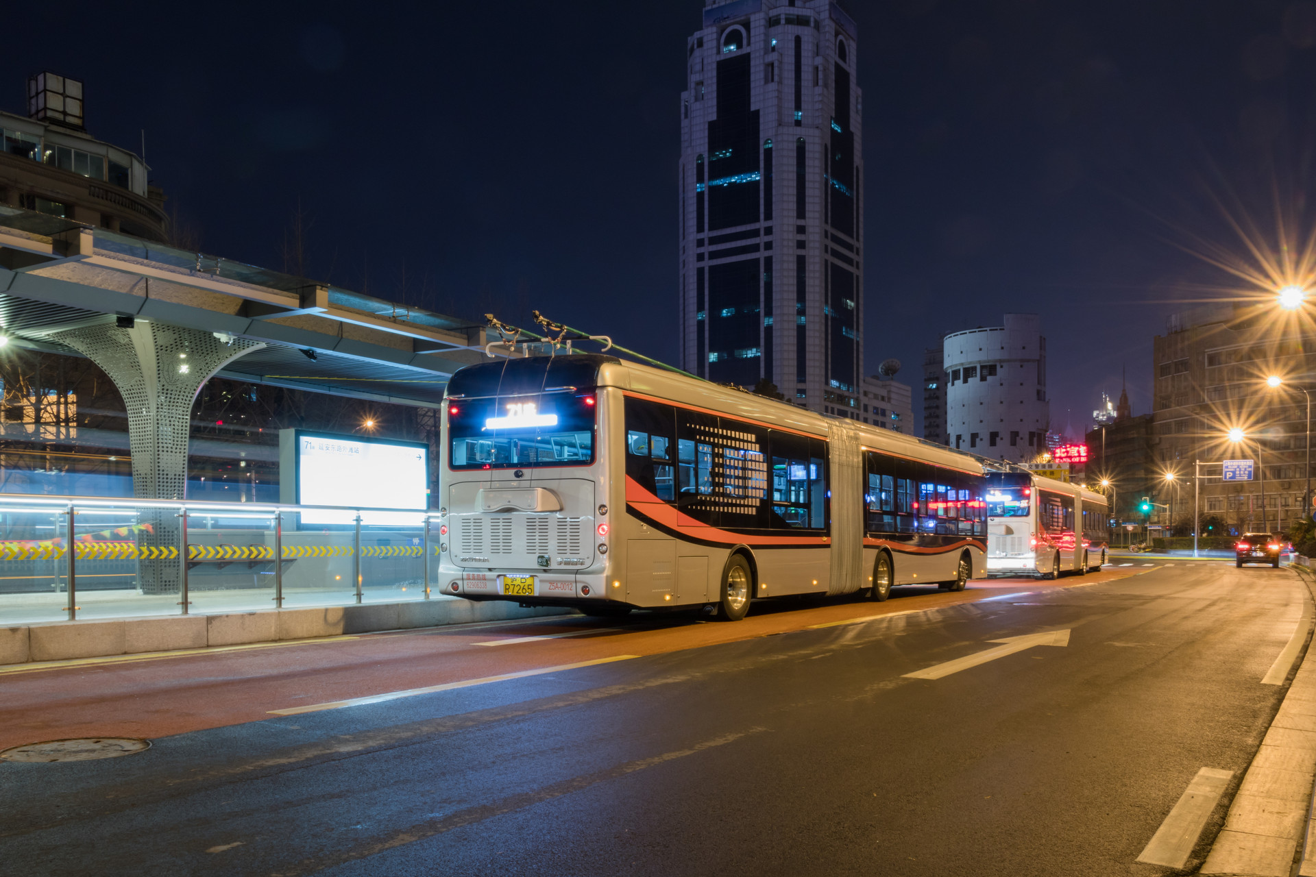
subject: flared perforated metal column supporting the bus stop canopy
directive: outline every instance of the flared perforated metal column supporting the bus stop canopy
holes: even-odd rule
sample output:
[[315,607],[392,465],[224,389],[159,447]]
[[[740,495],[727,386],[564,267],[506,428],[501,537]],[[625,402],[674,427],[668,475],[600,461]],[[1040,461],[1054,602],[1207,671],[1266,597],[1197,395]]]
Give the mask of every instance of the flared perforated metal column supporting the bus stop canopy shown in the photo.
[[[138,320],[132,329],[84,326],[53,338],[92,360],[114,381],[128,409],[128,446],[133,455],[133,496],[139,500],[182,500],[187,492],[187,444],[192,404],[215,372],[263,342]],[[139,547],[163,548],[159,560],[139,560],[143,593],[179,592],[179,521],[172,511],[142,514],[150,533],[138,534]]]

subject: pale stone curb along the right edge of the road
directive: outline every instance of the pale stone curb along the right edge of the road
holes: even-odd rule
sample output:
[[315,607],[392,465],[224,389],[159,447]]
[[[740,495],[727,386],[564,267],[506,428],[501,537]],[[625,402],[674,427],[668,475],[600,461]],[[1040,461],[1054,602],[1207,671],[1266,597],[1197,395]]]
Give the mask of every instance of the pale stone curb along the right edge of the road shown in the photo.
[[[1303,601],[1307,630],[1302,640],[1305,646],[1312,632],[1316,575],[1294,568],[1307,586],[1308,600]],[[1271,684],[1283,684],[1283,680]],[[1313,782],[1316,652],[1308,648],[1199,873],[1221,877],[1291,877],[1296,873],[1316,877]]]

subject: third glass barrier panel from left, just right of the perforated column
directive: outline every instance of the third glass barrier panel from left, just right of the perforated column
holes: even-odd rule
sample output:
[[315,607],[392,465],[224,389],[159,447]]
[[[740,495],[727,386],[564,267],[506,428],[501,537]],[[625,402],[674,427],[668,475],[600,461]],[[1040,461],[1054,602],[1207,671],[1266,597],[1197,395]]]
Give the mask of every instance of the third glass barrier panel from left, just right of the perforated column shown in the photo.
[[274,523],[272,511],[188,509],[191,614],[275,607]]

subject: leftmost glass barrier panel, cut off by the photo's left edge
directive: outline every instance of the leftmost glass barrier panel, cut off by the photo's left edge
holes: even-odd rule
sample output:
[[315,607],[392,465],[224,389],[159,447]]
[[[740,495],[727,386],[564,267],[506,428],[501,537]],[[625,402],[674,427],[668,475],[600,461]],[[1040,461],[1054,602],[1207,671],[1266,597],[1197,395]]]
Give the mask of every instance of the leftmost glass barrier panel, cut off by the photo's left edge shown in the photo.
[[0,626],[68,618],[67,525],[61,506],[0,508]]

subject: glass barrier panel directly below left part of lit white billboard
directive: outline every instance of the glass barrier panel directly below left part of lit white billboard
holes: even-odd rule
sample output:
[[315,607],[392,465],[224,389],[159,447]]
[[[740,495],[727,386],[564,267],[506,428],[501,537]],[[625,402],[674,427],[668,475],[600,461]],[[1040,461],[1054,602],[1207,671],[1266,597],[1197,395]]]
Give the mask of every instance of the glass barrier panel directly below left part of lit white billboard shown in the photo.
[[[357,602],[351,581],[353,525],[303,521],[283,513],[283,605],[346,606]],[[271,604],[272,605],[272,604]]]

